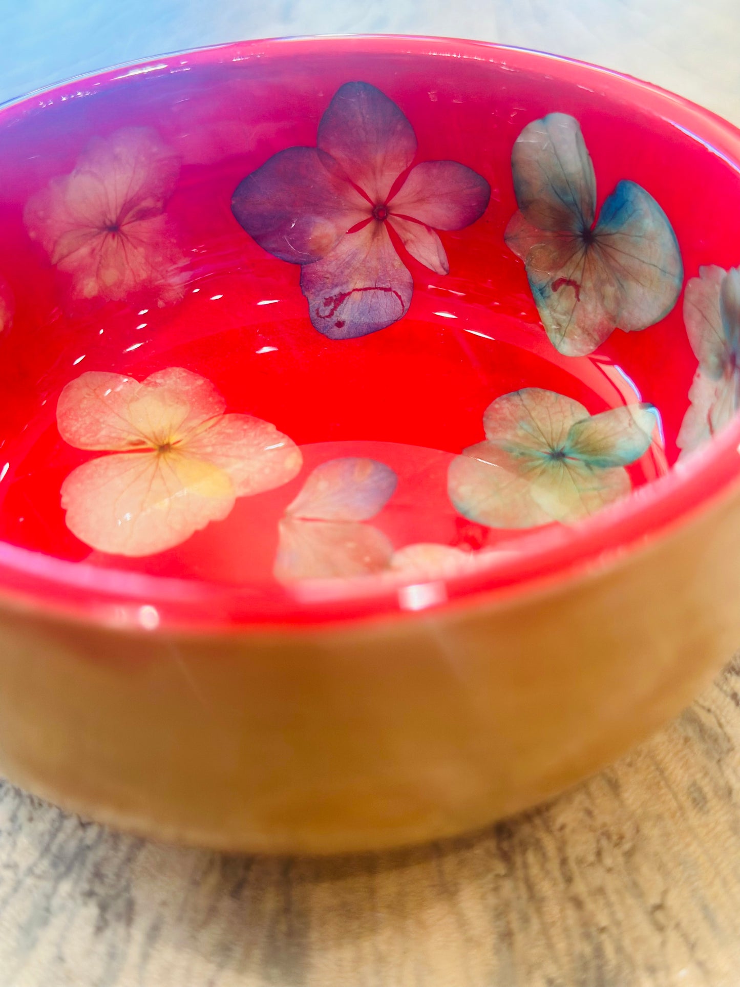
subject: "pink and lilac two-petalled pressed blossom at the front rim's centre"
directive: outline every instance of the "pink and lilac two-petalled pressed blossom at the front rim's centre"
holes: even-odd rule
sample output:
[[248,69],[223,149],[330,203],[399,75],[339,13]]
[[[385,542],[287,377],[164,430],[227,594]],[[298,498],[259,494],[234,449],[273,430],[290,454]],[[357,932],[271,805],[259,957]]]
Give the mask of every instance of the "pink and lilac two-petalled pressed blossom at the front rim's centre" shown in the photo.
[[311,473],[279,524],[274,574],[281,582],[363,575],[385,569],[393,546],[374,517],[396,490],[390,466],[332,459]]

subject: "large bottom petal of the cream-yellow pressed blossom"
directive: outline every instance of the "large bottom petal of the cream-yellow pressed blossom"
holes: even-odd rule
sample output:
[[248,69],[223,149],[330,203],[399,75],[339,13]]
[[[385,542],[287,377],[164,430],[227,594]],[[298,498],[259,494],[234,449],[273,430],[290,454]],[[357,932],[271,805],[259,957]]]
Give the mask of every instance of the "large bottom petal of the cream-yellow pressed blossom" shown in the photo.
[[235,492],[228,475],[177,453],[115,453],[74,470],[61,489],[70,531],[113,555],[154,555],[225,518]]

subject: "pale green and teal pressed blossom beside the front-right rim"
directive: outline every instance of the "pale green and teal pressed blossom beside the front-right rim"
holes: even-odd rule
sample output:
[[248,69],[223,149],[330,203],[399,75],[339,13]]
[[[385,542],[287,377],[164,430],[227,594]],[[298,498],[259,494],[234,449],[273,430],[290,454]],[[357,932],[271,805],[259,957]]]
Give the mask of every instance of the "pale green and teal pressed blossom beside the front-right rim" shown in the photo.
[[591,416],[554,391],[505,394],[485,410],[485,441],[450,464],[450,499],[494,528],[576,521],[629,493],[625,466],[647,451],[655,425],[652,405]]

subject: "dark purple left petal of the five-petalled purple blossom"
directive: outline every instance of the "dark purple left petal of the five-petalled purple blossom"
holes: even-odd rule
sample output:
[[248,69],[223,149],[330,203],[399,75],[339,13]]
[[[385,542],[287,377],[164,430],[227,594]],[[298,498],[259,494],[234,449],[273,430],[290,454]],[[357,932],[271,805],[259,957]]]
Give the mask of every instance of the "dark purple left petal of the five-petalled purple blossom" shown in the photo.
[[279,151],[248,175],[231,202],[259,246],[290,264],[312,264],[370,215],[370,204],[315,147]]

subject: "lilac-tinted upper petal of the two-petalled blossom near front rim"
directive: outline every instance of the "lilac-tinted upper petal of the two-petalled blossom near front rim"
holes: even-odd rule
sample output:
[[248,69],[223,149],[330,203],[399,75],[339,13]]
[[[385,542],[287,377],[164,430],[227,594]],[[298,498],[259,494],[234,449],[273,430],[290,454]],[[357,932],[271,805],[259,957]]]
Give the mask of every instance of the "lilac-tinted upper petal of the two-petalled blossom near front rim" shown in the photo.
[[286,513],[304,520],[365,521],[390,499],[398,477],[375,459],[331,459],[311,473]]

